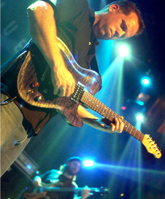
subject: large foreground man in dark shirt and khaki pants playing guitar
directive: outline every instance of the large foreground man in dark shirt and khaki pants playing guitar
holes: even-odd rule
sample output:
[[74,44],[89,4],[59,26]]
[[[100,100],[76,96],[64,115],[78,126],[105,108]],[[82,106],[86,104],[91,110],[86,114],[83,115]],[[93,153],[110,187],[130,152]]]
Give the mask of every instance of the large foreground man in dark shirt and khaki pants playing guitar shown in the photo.
[[[32,40],[2,66],[1,101],[5,105],[1,107],[1,175],[30,138],[38,135],[42,127],[57,114],[56,110],[31,106],[18,95],[17,76],[27,52],[31,54],[38,75],[42,75],[43,68],[48,66],[52,93],[68,97],[74,91],[75,80],[65,67],[57,36],[65,42],[81,67],[89,68],[91,65],[98,72],[94,58],[97,38],[125,39],[140,34],[144,28],[140,11],[131,2],[117,1],[98,12],[90,10],[86,0],[55,2],[37,1],[28,7]],[[32,86],[39,84],[36,82]],[[117,118],[107,126],[82,106],[78,107],[78,115],[84,123],[105,132],[122,132],[124,127],[122,120]]]

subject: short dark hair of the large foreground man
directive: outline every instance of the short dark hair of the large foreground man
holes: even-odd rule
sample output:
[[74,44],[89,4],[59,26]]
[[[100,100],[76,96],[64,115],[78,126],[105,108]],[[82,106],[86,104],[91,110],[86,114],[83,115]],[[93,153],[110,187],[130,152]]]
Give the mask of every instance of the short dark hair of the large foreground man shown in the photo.
[[137,14],[138,19],[139,19],[139,29],[138,29],[136,35],[140,35],[143,32],[144,28],[145,28],[145,24],[144,24],[144,21],[142,19],[141,12],[136,7],[136,4],[131,2],[131,1],[113,1],[113,2],[111,2],[109,4],[107,4],[104,8],[102,8],[102,10],[104,10],[104,11],[108,10],[109,6],[113,5],[113,4],[119,5],[120,10],[125,15],[129,15],[131,12],[134,12],[134,13]]

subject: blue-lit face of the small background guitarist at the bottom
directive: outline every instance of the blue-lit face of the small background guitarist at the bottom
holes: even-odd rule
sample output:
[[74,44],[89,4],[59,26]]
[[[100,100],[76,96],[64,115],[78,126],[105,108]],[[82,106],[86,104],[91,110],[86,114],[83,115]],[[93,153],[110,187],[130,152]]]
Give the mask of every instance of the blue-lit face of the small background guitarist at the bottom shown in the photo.
[[71,161],[71,162],[68,162],[67,163],[67,172],[69,175],[76,175],[79,170],[80,170],[80,167],[81,167],[81,163],[79,161]]

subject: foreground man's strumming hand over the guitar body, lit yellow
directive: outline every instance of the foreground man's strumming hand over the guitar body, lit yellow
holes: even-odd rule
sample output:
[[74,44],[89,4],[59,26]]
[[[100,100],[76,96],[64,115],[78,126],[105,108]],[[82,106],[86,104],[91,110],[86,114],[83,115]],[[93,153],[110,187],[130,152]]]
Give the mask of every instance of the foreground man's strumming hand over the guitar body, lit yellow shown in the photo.
[[69,97],[75,89],[75,80],[68,69],[63,66],[54,67],[51,71],[54,93],[60,97]]

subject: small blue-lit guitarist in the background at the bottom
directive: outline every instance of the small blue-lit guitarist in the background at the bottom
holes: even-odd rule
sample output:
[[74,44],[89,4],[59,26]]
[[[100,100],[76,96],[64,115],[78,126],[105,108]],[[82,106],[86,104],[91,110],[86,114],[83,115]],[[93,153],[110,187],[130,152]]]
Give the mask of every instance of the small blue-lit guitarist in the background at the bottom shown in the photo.
[[[81,159],[77,156],[70,157],[66,164],[60,167],[60,170],[52,169],[42,174],[41,176],[35,176],[33,180],[33,185],[36,189],[33,192],[25,192],[21,198],[24,199],[37,199],[37,198],[52,198],[52,199],[86,199],[91,193],[88,188],[84,188],[81,194],[74,193],[72,191],[40,191],[44,187],[61,187],[61,188],[77,188],[75,182],[76,175],[81,168]],[[38,188],[38,190],[37,190]],[[79,196],[80,195],[80,196]],[[19,198],[19,199],[21,199]]]

